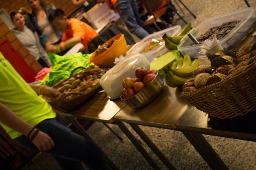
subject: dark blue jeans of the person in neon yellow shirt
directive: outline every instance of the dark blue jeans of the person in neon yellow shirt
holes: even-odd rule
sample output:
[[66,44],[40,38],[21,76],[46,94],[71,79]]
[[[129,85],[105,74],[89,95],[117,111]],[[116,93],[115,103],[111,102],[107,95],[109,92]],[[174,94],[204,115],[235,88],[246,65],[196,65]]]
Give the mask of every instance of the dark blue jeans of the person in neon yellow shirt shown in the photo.
[[[82,163],[90,170],[111,170],[102,151],[83,136],[74,133],[58,116],[46,119],[36,125],[47,133],[55,142],[52,150],[45,153],[51,154],[63,170],[83,170]],[[38,150],[38,148],[22,135],[15,139],[23,147]]]

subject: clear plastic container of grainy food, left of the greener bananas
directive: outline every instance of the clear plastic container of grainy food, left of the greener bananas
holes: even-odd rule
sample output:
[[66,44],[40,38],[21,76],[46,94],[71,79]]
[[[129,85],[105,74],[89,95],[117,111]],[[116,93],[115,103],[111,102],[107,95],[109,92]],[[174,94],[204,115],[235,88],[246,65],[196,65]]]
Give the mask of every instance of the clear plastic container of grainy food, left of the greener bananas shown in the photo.
[[[162,39],[164,34],[167,34],[169,36],[175,36],[180,34],[181,32],[181,27],[180,26],[173,26],[170,28],[166,28],[162,31],[158,31],[154,34],[150,34],[147,37],[144,37],[142,40],[140,40],[140,42],[137,42],[126,54],[126,57],[130,57],[136,53],[140,53],[140,51],[142,51],[148,44],[149,42],[152,41],[152,39],[154,40],[160,40]],[[162,44],[151,51],[145,52],[143,53],[143,55],[145,57],[147,57],[147,59],[151,62],[153,61],[154,58],[158,58],[161,55],[165,54],[167,51],[169,51],[168,49],[165,48],[164,46],[164,41],[162,42]]]

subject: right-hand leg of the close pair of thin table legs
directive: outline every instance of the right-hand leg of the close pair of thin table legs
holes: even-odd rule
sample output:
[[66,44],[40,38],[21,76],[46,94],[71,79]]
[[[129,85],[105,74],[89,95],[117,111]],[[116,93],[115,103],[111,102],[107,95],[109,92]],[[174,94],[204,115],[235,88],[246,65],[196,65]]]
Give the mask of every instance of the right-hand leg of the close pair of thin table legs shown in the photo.
[[158,149],[158,147],[148,138],[148,136],[141,130],[138,125],[130,124],[134,131],[140,136],[141,139],[150,147],[151,150],[158,156],[158,158],[169,168],[169,170],[176,170],[172,163],[163,155],[163,153]]

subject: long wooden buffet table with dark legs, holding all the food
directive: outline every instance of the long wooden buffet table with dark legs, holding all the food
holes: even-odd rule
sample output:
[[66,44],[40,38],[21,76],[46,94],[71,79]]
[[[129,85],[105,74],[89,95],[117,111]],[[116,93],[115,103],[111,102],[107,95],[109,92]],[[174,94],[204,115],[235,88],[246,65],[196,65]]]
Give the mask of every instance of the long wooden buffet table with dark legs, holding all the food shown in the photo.
[[[250,43],[253,40],[252,34],[255,31],[256,28],[241,42],[238,48]],[[200,64],[205,64],[209,60],[205,57],[199,59],[199,62]],[[170,88],[166,85],[160,96],[143,109],[129,108],[120,99],[111,100],[105,92],[101,92],[92,96],[87,102],[71,113],[56,112],[67,116],[79,128],[83,135],[89,139],[90,137],[79,122],[76,121],[76,118],[118,125],[154,169],[160,168],[122,122],[127,122],[131,125],[135,132],[148,144],[151,150],[156,153],[169,169],[175,169],[175,167],[166,159],[163,153],[161,153],[138,125],[179,130],[186,136],[212,169],[228,169],[202,134],[250,141],[256,141],[256,136],[246,132],[235,132],[210,127],[208,125],[207,114],[202,113],[179,98],[178,94],[181,90],[181,88]],[[115,165],[112,167],[115,167]]]

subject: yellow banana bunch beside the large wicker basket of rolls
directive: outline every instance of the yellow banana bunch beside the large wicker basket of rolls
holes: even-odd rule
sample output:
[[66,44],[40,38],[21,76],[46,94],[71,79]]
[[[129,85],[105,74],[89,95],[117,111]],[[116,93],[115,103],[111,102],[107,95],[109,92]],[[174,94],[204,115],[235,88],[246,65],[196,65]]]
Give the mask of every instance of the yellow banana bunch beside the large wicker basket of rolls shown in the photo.
[[184,58],[180,56],[177,61],[172,62],[171,66],[163,68],[166,85],[172,88],[183,85],[188,79],[193,77],[193,71],[198,65],[197,59],[191,63],[189,55],[185,54]]

